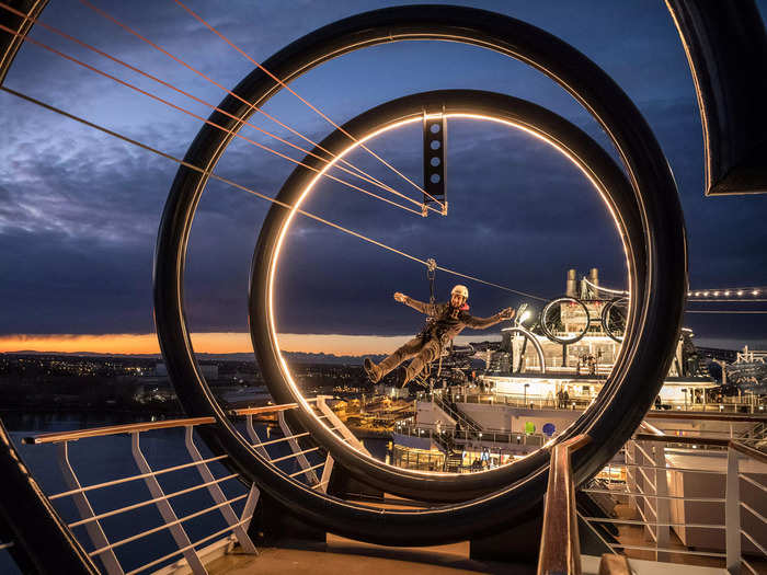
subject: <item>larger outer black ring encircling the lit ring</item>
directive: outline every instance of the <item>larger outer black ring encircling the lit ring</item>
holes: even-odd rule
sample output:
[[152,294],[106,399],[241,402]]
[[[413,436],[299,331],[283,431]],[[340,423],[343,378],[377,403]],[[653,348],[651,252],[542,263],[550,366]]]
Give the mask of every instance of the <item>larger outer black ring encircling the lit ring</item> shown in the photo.
[[[473,44],[520,59],[568,90],[605,127],[622,158],[632,198],[620,212],[631,269],[630,329],[613,377],[586,416],[561,437],[588,433],[593,442],[573,457],[575,481],[595,473],[622,446],[651,405],[671,357],[687,289],[684,221],[673,176],[652,131],[628,96],[596,65],[556,36],[501,14],[457,7],[399,7],[353,16],[300,38],[264,62],[289,82],[336,56],[366,46],[405,39]],[[236,92],[250,104],[227,97],[211,122],[239,129],[241,120],[281,87],[260,70]],[[213,170],[232,136],[204,126],[185,157]],[[207,177],[182,168],[163,211],[154,264],[154,319],[169,375],[184,410],[211,416],[205,440],[215,452],[229,455],[232,468],[262,493],[332,532],[385,544],[433,544],[490,533],[538,506],[546,491],[548,453],[523,460],[535,463],[513,485],[458,505],[427,510],[371,509],[310,490],[274,468],[248,444],[217,404],[196,365],[183,307],[184,262],[192,220]],[[640,222],[641,232],[637,233]],[[649,294],[653,294],[649,298]],[[652,337],[639,337],[651,333]],[[260,355],[262,352],[259,352]],[[263,367],[263,366],[262,366]],[[275,376],[265,367],[267,379]],[[277,373],[278,375],[278,373]],[[510,469],[517,465],[511,465]],[[478,473],[477,475],[483,475]],[[413,485],[424,493],[425,485]]]

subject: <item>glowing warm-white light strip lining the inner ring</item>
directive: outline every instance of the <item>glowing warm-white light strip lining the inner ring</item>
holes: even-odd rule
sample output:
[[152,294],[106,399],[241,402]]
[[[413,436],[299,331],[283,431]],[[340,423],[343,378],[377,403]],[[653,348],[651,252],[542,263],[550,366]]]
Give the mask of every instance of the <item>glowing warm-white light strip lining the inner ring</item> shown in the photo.
[[[629,261],[629,256],[628,256],[629,248],[628,248],[628,245],[626,244],[626,238],[625,238],[625,235],[623,235],[623,233],[622,233],[622,229],[621,229],[620,221],[619,221],[619,219],[618,219],[617,214],[615,212],[615,210],[614,210],[613,206],[610,205],[610,203],[607,202],[607,198],[606,198],[604,192],[602,191],[602,187],[599,186],[598,182],[594,179],[594,176],[592,175],[592,173],[591,173],[588,170],[586,170],[585,166],[583,166],[583,165],[577,161],[577,159],[575,158],[575,156],[574,156],[573,153],[571,153],[570,150],[569,150],[566,147],[562,146],[559,141],[557,141],[557,140],[554,140],[554,139],[551,139],[551,138],[549,138],[548,136],[545,136],[545,135],[540,134],[539,131],[536,131],[535,129],[533,129],[533,128],[530,128],[530,127],[528,127],[528,126],[526,126],[526,125],[524,125],[524,124],[518,124],[518,123],[515,123],[515,122],[511,122],[511,120],[508,120],[508,119],[503,119],[503,118],[499,118],[499,117],[494,117],[494,116],[485,116],[485,115],[482,115],[482,114],[457,113],[457,112],[456,112],[456,113],[446,113],[446,114],[442,114],[440,116],[442,116],[442,117],[445,117],[445,118],[468,118],[468,119],[479,119],[479,120],[485,120],[485,122],[493,122],[493,123],[496,123],[496,124],[503,124],[503,125],[505,125],[505,126],[519,129],[519,130],[522,130],[522,131],[525,131],[526,134],[529,134],[530,136],[534,136],[535,138],[539,139],[540,141],[543,141],[543,142],[548,143],[548,145],[551,146],[553,149],[556,149],[557,151],[559,151],[562,156],[564,156],[565,158],[568,158],[568,160],[570,160],[570,161],[586,176],[586,179],[592,183],[592,185],[595,187],[595,189],[597,191],[597,193],[598,193],[599,196],[602,197],[603,202],[604,202],[605,205],[607,206],[607,209],[609,210],[610,216],[613,217],[613,220],[614,220],[614,222],[615,222],[615,225],[616,225],[616,228],[618,229],[618,233],[619,233],[620,239],[621,239],[621,245],[623,246],[623,254],[625,254],[626,261],[627,261],[627,263],[628,263],[628,261]],[[278,237],[278,239],[277,239],[277,242],[276,242],[276,245],[275,245],[275,249],[274,249],[274,257],[272,258],[271,266],[270,266],[270,272],[268,272],[268,321],[270,321],[270,338],[272,340],[273,348],[275,349],[275,352],[276,352],[276,354],[277,354],[277,357],[279,358],[279,365],[282,366],[283,373],[285,375],[285,379],[287,380],[288,384],[290,386],[290,388],[291,388],[291,390],[293,390],[293,395],[296,398],[297,403],[301,406],[301,409],[304,410],[305,413],[310,414],[312,417],[314,417],[314,419],[317,421],[317,423],[320,424],[320,425],[322,425],[322,426],[323,426],[329,433],[331,433],[331,434],[333,433],[333,430],[325,424],[324,421],[322,421],[322,419],[320,419],[319,417],[317,417],[317,415],[314,414],[313,410],[310,407],[309,402],[304,398],[304,394],[301,393],[300,389],[298,388],[298,386],[296,384],[295,380],[293,379],[293,373],[290,372],[290,370],[289,370],[289,368],[288,368],[288,365],[287,365],[287,361],[286,361],[285,358],[283,357],[283,353],[282,353],[282,349],[281,349],[281,347],[279,347],[279,338],[278,338],[278,336],[277,336],[277,330],[276,330],[275,320],[274,320],[274,291],[275,291],[275,290],[274,290],[274,278],[275,278],[275,275],[276,275],[277,262],[279,261],[279,252],[281,252],[282,246],[283,246],[283,240],[285,239],[285,235],[286,235],[286,233],[287,233],[287,230],[290,228],[290,223],[293,222],[293,218],[294,218],[294,216],[297,214],[297,210],[300,208],[301,204],[304,203],[304,200],[306,199],[306,197],[309,195],[309,193],[314,188],[314,185],[316,185],[317,182],[322,177],[322,175],[324,174],[324,172],[327,172],[328,170],[330,170],[337,161],[340,161],[341,159],[343,159],[344,157],[346,157],[346,156],[347,156],[348,153],[351,153],[354,149],[356,149],[357,147],[359,147],[359,146],[364,145],[365,142],[371,140],[373,138],[376,138],[376,137],[380,136],[381,134],[386,134],[386,133],[388,133],[388,131],[391,131],[391,130],[393,130],[393,129],[400,128],[400,127],[402,127],[402,126],[405,126],[405,125],[409,125],[409,124],[414,124],[414,123],[416,123],[416,122],[422,122],[422,120],[423,120],[423,117],[424,117],[424,115],[423,115],[423,114],[420,114],[420,115],[414,116],[414,117],[412,117],[412,118],[402,119],[402,120],[399,120],[399,122],[394,122],[394,123],[392,123],[392,124],[389,124],[388,126],[384,126],[382,128],[379,128],[379,129],[377,129],[377,130],[375,130],[375,131],[371,131],[370,134],[366,135],[365,137],[359,138],[356,142],[352,143],[351,146],[348,146],[347,148],[345,148],[343,151],[341,151],[340,153],[337,153],[333,160],[331,160],[330,162],[328,162],[328,163],[322,168],[322,170],[320,170],[320,171],[317,173],[317,175],[314,175],[314,177],[309,182],[309,184],[306,186],[306,188],[304,189],[304,192],[301,192],[300,196],[298,197],[298,199],[297,199],[297,200],[295,202],[295,204],[293,205],[293,208],[290,209],[290,214],[289,214],[288,217],[285,219],[285,222],[284,222],[284,225],[283,225],[282,230],[279,231],[279,237]],[[428,116],[427,116],[427,117],[428,117]],[[633,281],[633,278],[631,277],[631,274],[629,274],[629,284],[631,285],[632,281]],[[631,286],[630,286],[630,287],[631,287]],[[630,308],[629,308],[629,309],[630,309]],[[627,324],[628,324],[630,321],[631,321],[631,319],[630,319],[630,318],[627,318]],[[589,405],[589,406],[583,412],[583,414],[581,414],[581,417],[583,417],[583,416],[593,407],[593,405],[594,405],[594,404]],[[547,441],[547,442],[541,447],[541,449],[549,447],[551,444],[553,444],[554,440],[556,440],[556,439],[553,439],[553,438],[550,439],[549,441]],[[364,458],[364,459],[367,459],[367,460],[369,460],[369,461],[375,461],[376,463],[381,463],[378,459],[375,459],[375,458],[373,458],[371,456],[368,456],[367,453],[363,452],[362,450],[357,449],[356,447],[354,447],[354,446],[351,445],[351,444],[344,442],[343,445],[344,445],[344,447],[350,448],[350,449],[356,451],[356,453],[357,453],[359,457]],[[528,453],[528,455],[525,456],[525,457],[529,457],[529,456],[531,456],[531,455],[535,453],[535,452],[537,452],[537,451],[533,451],[531,453]],[[386,464],[386,463],[385,463],[385,464]],[[507,463],[507,464],[514,464],[514,462]],[[398,469],[398,468],[396,468],[394,465],[391,465],[391,464],[389,464],[389,467],[393,467],[394,469]],[[457,473],[445,473],[445,472],[433,472],[433,471],[419,471],[419,470],[409,470],[409,471],[411,471],[411,472],[413,472],[413,473],[415,473],[415,474],[432,475],[432,476],[433,476],[433,475],[456,475],[456,474],[457,474]],[[488,473],[488,472],[490,472],[490,470],[478,471],[478,472],[476,472],[476,473]],[[473,473],[473,474],[476,474],[476,473]]]

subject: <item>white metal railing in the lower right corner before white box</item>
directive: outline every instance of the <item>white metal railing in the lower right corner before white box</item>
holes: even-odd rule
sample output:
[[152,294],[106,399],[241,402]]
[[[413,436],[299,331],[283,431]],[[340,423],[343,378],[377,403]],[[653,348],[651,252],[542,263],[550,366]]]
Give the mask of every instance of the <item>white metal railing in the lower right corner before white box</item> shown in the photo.
[[[720,455],[690,449],[696,446],[719,449]],[[711,458],[723,456],[724,450],[726,450],[726,467],[725,469],[716,469],[714,465],[711,465],[716,459],[711,460]],[[672,464],[667,459],[667,456],[686,457],[690,455],[706,458],[708,467],[679,467]],[[740,470],[740,464],[744,459],[748,460],[753,468],[747,473]],[[691,465],[689,459],[687,464]],[[763,471],[754,471],[755,465],[764,465],[760,468]],[[741,565],[746,566],[752,573],[757,573],[757,570],[751,564],[756,555],[756,560],[760,561],[764,567],[764,562],[767,561],[767,552],[765,551],[767,526],[765,526],[764,511],[759,513],[754,503],[767,501],[764,497],[767,487],[757,479],[767,474],[767,455],[763,451],[741,441],[720,437],[637,434],[626,445],[625,463],[622,465],[611,464],[611,467],[625,469],[626,482],[623,484],[608,482],[608,488],[587,486],[581,491],[588,494],[610,495],[614,499],[626,501],[640,518],[585,517],[580,514],[579,517],[614,553],[621,551],[623,553],[627,551],[652,552],[656,561],[672,562],[689,555],[714,557],[725,562],[730,573],[741,573]],[[709,493],[699,493],[701,488],[706,488],[705,481],[699,475],[695,485],[690,483],[690,488],[696,488],[698,492],[694,495],[687,495],[685,493],[686,484],[682,476],[692,473],[718,475],[723,481],[710,484]],[[752,490],[748,502],[743,501],[741,496],[743,485],[747,485]],[[723,494],[717,491],[723,486],[725,486]],[[714,493],[710,493],[711,491]],[[697,510],[692,509],[696,506]],[[696,515],[697,511],[702,513],[701,509],[708,516]],[[688,521],[686,520],[688,515],[709,520]],[[641,527],[651,541],[648,544],[610,543],[595,528],[599,524]],[[672,544],[672,529],[674,534],[678,537],[680,544]],[[707,534],[711,531],[719,531],[723,536],[724,541],[721,547],[718,543],[719,539]],[[742,553],[744,541],[751,559]]]

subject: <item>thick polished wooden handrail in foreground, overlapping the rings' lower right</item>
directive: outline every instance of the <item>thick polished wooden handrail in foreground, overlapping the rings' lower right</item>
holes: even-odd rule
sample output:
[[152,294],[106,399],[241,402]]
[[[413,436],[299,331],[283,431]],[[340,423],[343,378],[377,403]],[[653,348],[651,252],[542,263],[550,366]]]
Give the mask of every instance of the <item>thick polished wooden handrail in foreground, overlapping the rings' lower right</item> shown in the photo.
[[538,575],[581,574],[575,485],[570,456],[591,440],[591,436],[581,434],[557,444],[551,450],[549,486],[546,492],[543,527],[538,556]]

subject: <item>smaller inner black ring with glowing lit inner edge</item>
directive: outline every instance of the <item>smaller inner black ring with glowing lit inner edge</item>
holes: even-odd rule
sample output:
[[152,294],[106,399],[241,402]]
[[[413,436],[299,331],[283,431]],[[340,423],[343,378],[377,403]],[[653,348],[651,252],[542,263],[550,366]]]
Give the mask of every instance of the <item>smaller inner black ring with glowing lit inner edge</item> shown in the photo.
[[[251,336],[270,393],[279,403],[302,405],[302,413],[297,414],[300,425],[359,481],[405,497],[463,501],[524,479],[540,465],[541,458],[546,459],[546,452],[541,450],[510,465],[471,474],[434,475],[385,464],[341,440],[325,422],[314,415],[279,352],[274,319],[274,278],[282,242],[293,219],[297,217],[297,210],[321,180],[322,173],[332,169],[360,143],[392,129],[422,122],[424,111],[428,110],[440,111],[445,118],[499,123],[540,138],[586,175],[614,216],[622,215],[621,218],[616,217],[615,221],[625,242],[628,238],[641,237],[641,223],[630,185],[615,162],[594,140],[564,118],[536,104],[505,94],[476,90],[440,90],[413,94],[364,112],[322,140],[302,159],[301,163],[306,165],[297,166],[286,180],[276,196],[282,206],[273,205],[262,225],[250,281]],[[350,142],[347,134],[352,134],[357,141]],[[328,150],[335,159],[327,163],[319,160],[322,150]],[[285,205],[293,208],[286,209],[283,207]],[[641,245],[637,241],[634,244]],[[627,255],[634,253],[630,245],[625,243],[623,248]],[[629,276],[642,277],[641,267],[638,267],[641,258],[629,258]],[[577,300],[573,301],[583,306]],[[542,349],[540,354],[542,355]],[[585,425],[594,413],[596,412],[592,412],[581,425]]]

